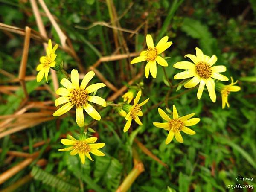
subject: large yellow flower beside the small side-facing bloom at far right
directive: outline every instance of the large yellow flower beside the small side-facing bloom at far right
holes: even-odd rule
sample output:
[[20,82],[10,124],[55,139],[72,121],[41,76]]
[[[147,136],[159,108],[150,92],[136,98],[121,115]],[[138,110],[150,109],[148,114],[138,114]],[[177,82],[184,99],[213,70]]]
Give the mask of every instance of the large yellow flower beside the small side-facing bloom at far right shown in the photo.
[[217,61],[217,57],[212,55],[210,58],[207,55],[204,55],[203,52],[196,47],[196,56],[195,55],[185,55],[185,57],[190,58],[193,62],[181,61],[173,65],[177,69],[186,69],[174,76],[174,79],[186,79],[193,77],[189,82],[187,82],[184,87],[192,88],[198,85],[197,98],[200,99],[204,90],[204,85],[206,85],[209,96],[212,99],[212,102],[216,101],[215,93],[215,82],[212,78],[218,79],[220,81],[228,81],[228,78],[224,75],[221,75],[221,72],[225,72],[227,69],[223,65],[213,66]]

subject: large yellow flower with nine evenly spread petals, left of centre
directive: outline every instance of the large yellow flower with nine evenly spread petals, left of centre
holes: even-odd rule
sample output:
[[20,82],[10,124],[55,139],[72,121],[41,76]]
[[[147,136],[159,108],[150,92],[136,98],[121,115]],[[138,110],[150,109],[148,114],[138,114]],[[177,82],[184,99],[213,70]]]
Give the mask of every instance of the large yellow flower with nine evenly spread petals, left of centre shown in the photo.
[[[88,113],[93,119],[100,120],[101,116],[100,114],[93,108],[92,105],[90,105],[89,102],[93,102],[99,105],[102,105],[103,107],[106,107],[106,101],[105,99],[99,97],[99,96],[90,96],[90,93],[93,93],[94,91],[105,87],[106,85],[104,83],[96,83],[92,84],[88,87],[87,84],[89,81],[93,78],[95,73],[93,71],[89,71],[85,76],[84,79],[81,82],[81,85],[79,87],[79,74],[77,70],[71,71],[71,82],[63,78],[61,80],[61,84],[65,87],[58,88],[56,90],[56,93],[58,95],[61,95],[62,97],[59,97],[55,100],[55,105],[63,105],[61,108],[59,108],[55,113],[53,113],[53,116],[61,116],[64,113],[67,113],[67,111],[70,111],[73,106],[76,106],[76,122],[79,127],[84,126],[84,110],[86,113]],[[84,109],[84,110],[83,110]]]

